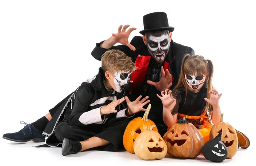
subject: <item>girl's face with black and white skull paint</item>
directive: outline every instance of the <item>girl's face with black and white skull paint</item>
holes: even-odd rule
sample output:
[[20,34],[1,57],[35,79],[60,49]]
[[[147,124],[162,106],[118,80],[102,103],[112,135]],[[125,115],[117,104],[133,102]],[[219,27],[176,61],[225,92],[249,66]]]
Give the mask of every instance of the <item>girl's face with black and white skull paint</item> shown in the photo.
[[189,85],[191,90],[195,92],[199,92],[199,90],[204,85],[205,75],[203,74],[203,75],[194,76],[194,75],[185,74],[185,79],[186,79],[186,83]]

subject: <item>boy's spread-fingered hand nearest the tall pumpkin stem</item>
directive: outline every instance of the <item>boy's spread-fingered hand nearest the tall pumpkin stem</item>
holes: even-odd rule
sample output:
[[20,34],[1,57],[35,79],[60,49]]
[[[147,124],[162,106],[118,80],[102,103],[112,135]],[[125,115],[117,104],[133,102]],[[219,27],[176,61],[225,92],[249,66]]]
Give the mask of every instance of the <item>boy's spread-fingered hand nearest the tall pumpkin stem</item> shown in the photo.
[[149,103],[150,100],[147,100],[148,96],[146,96],[142,100],[140,100],[141,97],[142,96],[140,95],[136,100],[131,102],[129,100],[129,98],[127,96],[125,96],[125,100],[126,100],[126,103],[127,103],[127,106],[128,106],[128,113],[129,114],[135,114],[135,113],[140,112],[140,111],[146,111],[146,109],[143,109],[143,106],[145,106],[147,103]]

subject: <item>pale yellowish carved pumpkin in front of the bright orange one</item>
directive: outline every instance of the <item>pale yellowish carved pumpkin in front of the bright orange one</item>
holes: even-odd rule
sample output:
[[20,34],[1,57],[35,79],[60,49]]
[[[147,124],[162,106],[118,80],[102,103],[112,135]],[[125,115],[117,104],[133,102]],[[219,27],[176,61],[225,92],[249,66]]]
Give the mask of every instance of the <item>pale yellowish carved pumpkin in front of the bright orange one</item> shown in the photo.
[[134,142],[134,152],[142,160],[162,159],[166,156],[167,145],[153,127],[140,133]]

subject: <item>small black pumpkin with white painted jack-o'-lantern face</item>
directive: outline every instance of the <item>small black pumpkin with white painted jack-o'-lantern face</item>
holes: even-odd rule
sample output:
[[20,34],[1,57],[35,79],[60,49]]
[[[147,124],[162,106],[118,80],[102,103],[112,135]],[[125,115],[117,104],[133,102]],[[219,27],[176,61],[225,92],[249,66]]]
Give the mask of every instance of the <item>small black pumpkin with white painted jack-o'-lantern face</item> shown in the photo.
[[212,140],[205,143],[203,155],[207,160],[222,162],[227,158],[227,147],[221,142],[221,132]]

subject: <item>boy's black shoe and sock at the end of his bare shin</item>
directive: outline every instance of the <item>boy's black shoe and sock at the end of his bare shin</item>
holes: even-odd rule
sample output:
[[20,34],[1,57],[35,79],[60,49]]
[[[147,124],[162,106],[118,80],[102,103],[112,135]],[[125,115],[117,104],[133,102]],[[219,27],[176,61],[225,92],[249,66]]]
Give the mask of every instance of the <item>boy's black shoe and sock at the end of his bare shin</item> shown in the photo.
[[66,155],[71,155],[75,154],[77,152],[80,152],[81,150],[81,143],[78,141],[71,141],[67,138],[64,138],[63,143],[62,143],[62,149],[61,149],[61,154],[66,156]]

